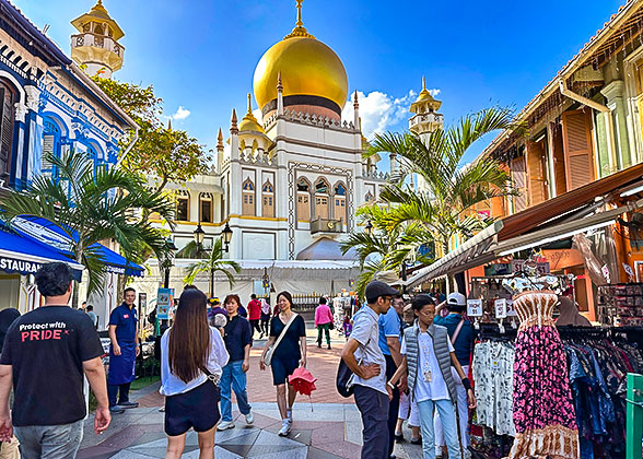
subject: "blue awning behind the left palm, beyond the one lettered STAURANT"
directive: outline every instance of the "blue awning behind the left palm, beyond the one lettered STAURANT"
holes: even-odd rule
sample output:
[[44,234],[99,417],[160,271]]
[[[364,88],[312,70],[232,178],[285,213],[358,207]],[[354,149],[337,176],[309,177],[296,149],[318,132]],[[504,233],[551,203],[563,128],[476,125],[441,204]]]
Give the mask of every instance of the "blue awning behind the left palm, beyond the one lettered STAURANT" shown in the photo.
[[[69,259],[71,244],[68,234],[48,220],[38,216],[22,215],[13,219],[11,227],[19,235],[25,238],[28,237],[35,239],[39,245],[45,245],[51,251]],[[93,244],[91,247],[98,251],[98,255],[107,268],[107,272],[140,278],[143,276],[144,268],[140,264],[129,261],[127,258],[109,250],[101,244]]]

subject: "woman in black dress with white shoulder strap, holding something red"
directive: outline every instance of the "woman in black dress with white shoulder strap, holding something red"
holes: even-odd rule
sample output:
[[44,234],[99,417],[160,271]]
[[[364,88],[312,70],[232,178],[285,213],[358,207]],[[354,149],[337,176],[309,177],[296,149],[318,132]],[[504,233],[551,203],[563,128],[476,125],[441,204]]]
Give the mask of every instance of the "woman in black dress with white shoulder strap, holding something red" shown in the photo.
[[[292,426],[292,405],[296,397],[294,388],[288,384],[288,377],[299,366],[306,366],[306,323],[302,316],[292,310],[292,295],[281,292],[277,295],[279,315],[270,321],[270,337],[264,348],[259,367],[266,369],[266,353],[277,342],[279,336],[292,318],[292,323],[272,353],[272,382],[277,387],[277,404],[281,414],[280,436],[287,436]],[[293,318],[293,315],[295,316]],[[288,385],[288,405],[285,401],[285,386]]]

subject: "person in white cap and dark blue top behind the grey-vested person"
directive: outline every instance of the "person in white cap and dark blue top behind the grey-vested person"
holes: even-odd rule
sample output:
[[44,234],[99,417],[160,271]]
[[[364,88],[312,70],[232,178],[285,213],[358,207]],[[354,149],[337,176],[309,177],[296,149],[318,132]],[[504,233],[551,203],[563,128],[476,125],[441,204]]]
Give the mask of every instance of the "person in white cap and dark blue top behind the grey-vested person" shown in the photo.
[[[474,327],[471,322],[463,317],[465,310],[467,310],[467,298],[465,295],[458,292],[451,293],[446,298],[446,304],[440,306],[437,310],[446,307],[448,315],[442,317],[439,314],[435,315],[433,322],[439,326],[446,327],[451,342],[455,349],[456,357],[465,374],[469,373],[469,362],[471,361],[471,352],[474,350]],[[461,385],[459,378],[455,377],[455,369],[452,367],[454,373],[454,381],[456,384],[457,392],[457,412],[458,412],[458,424],[460,428],[460,446],[465,452],[465,458],[470,457],[468,447],[471,444],[469,439],[469,433],[467,432],[469,423],[469,409],[467,407],[467,390]],[[435,416],[435,452],[436,456],[442,456],[441,447],[444,447],[444,433],[442,431],[442,423],[440,416]]]

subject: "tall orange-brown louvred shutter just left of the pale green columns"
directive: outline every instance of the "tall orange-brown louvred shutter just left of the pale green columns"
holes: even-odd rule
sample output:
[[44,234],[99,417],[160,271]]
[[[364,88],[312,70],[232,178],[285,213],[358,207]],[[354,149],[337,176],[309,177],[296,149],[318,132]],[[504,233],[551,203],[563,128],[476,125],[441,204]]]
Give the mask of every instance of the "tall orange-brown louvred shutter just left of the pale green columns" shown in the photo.
[[594,181],[589,109],[562,114],[565,176],[569,190]]

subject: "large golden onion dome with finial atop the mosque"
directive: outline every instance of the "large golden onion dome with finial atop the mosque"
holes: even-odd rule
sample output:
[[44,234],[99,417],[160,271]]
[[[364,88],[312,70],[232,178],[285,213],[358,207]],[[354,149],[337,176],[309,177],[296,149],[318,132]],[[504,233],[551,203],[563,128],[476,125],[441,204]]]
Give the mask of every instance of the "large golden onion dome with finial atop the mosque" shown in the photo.
[[[254,90],[259,107],[277,99],[277,79],[281,72],[283,97],[317,96],[343,108],[348,96],[348,76],[339,57],[332,49],[315,39],[302,26],[300,15],[293,32],[272,45],[255,69]],[[288,104],[285,104],[288,105]]]

